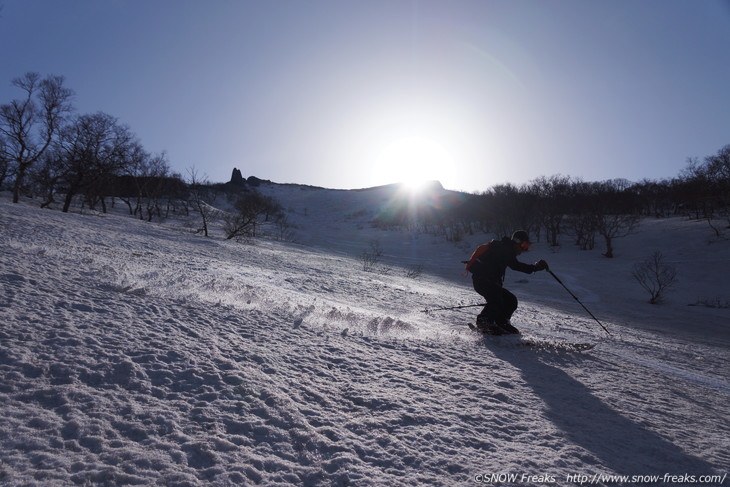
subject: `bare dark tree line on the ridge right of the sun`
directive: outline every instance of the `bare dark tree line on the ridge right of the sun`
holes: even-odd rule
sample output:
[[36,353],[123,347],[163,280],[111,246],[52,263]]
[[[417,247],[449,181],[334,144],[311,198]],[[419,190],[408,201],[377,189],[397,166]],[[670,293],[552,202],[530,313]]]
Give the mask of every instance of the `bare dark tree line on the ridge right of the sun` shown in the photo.
[[435,191],[425,194],[416,208],[406,197],[393,200],[374,223],[449,240],[474,233],[510,235],[522,228],[551,246],[569,239],[591,250],[602,242],[604,255],[613,257],[614,240],[631,233],[641,218],[668,216],[703,219],[718,237],[730,228],[730,145],[702,160],[689,159],[672,179],[586,182],[554,175],[477,194]]

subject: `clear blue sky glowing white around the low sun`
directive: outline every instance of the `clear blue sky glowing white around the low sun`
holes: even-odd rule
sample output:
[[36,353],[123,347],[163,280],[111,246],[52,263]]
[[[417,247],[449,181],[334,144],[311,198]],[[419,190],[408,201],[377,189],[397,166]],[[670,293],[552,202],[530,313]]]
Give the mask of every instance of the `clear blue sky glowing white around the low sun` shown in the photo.
[[212,182],[639,181],[730,144],[730,0],[0,6],[0,103],[62,75],[78,113]]

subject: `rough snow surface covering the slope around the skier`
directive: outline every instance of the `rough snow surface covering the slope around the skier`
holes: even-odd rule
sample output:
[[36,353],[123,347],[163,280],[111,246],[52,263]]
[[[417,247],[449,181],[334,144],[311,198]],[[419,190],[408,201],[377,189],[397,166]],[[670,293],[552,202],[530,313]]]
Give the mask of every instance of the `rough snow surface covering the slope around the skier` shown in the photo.
[[[513,323],[543,343],[525,348],[469,332],[479,308],[421,312],[479,302],[459,261],[490,235],[372,228],[391,187],[263,191],[295,243],[0,195],[0,484],[727,474],[730,309],[688,306],[730,300],[730,241],[705,223],[647,220],[612,260],[536,244],[521,259],[546,259],[611,336],[549,274],[508,271]],[[374,241],[384,255],[365,271]],[[680,278],[661,305],[630,277],[654,250]]]

